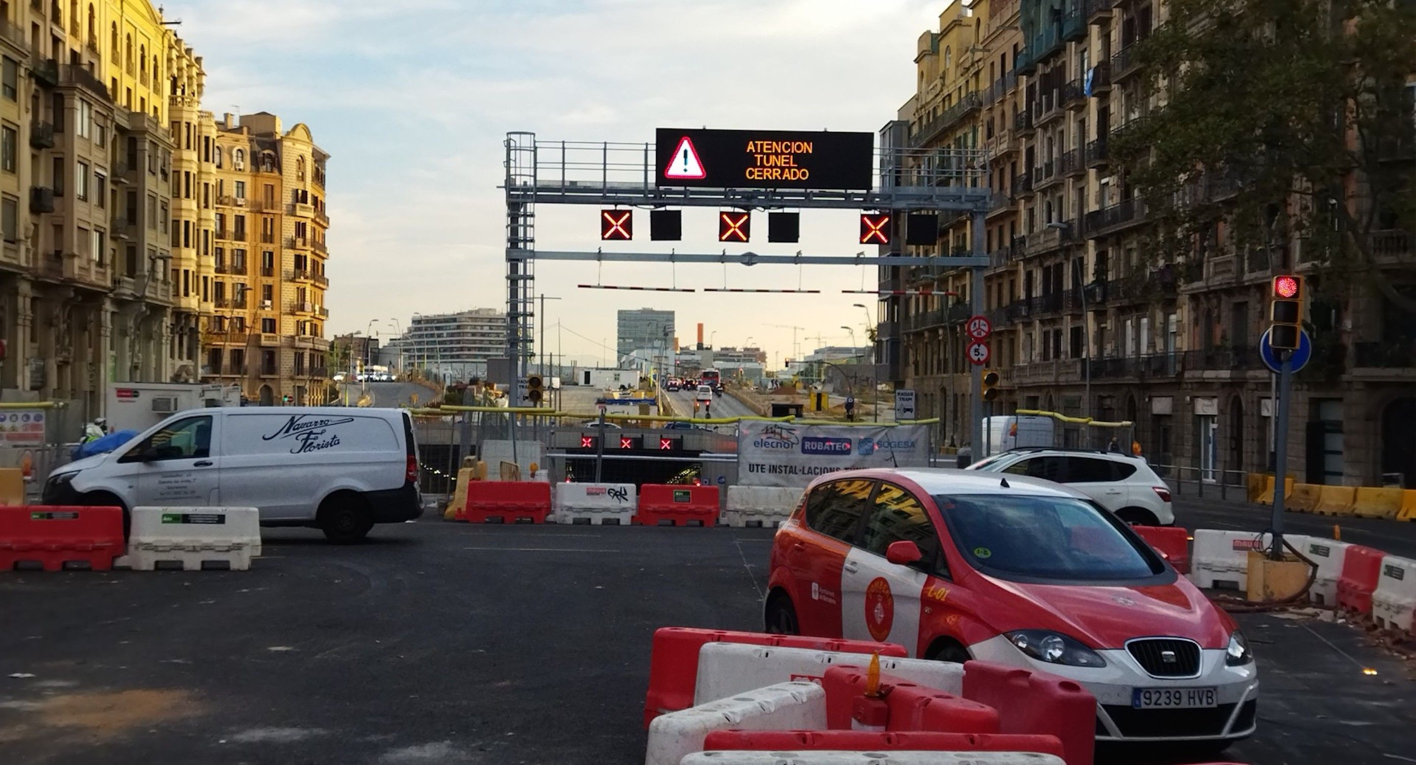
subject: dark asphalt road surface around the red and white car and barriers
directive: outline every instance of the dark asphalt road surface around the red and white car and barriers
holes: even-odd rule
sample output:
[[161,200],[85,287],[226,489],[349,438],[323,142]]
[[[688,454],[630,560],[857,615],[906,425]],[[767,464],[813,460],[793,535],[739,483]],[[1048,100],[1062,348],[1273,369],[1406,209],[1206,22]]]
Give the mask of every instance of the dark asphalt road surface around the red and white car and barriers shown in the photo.
[[[425,519],[268,529],[251,571],[0,574],[0,762],[641,761],[653,631],[756,629],[770,535]],[[1348,625],[1238,618],[1260,728],[1222,759],[1412,757],[1409,667]]]

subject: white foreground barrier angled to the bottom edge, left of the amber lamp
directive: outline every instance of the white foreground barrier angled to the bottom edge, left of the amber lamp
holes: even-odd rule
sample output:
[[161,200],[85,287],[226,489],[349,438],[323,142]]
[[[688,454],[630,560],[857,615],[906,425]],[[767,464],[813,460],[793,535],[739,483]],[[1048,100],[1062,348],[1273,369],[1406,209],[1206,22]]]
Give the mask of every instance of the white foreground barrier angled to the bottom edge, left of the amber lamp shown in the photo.
[[678,765],[701,752],[711,731],[826,730],[826,689],[816,683],[779,683],[661,714],[649,724],[644,765]]

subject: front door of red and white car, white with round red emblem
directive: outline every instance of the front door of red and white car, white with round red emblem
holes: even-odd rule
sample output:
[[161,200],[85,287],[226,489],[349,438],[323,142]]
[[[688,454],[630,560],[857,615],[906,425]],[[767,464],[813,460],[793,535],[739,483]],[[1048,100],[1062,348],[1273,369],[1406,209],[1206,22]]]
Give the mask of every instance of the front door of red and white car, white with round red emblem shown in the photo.
[[[916,566],[885,560],[885,550],[899,540],[913,542],[925,557]],[[919,655],[920,598],[937,560],[939,536],[923,501],[882,481],[841,574],[844,635],[899,643]]]

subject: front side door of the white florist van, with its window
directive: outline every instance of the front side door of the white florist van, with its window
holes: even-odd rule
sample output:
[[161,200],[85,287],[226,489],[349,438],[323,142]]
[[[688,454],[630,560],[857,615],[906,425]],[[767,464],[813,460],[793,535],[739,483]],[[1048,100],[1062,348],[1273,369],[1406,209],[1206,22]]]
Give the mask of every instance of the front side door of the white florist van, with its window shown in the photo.
[[129,448],[119,462],[136,474],[135,506],[205,508],[219,505],[221,419],[211,414],[181,417]]

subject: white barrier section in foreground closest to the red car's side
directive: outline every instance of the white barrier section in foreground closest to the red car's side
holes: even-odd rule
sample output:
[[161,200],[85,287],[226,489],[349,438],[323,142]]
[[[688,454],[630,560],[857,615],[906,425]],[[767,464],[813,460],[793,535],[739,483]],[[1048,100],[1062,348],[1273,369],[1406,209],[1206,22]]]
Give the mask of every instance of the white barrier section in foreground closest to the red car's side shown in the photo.
[[[705,704],[770,683],[807,680],[820,683],[831,666],[862,670],[871,658],[862,653],[777,648],[746,643],[707,643],[698,649],[698,682],[694,703]],[[925,659],[881,656],[881,673],[954,696],[963,694],[964,666]]]

